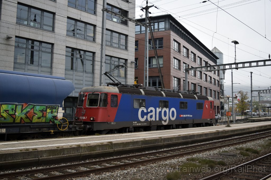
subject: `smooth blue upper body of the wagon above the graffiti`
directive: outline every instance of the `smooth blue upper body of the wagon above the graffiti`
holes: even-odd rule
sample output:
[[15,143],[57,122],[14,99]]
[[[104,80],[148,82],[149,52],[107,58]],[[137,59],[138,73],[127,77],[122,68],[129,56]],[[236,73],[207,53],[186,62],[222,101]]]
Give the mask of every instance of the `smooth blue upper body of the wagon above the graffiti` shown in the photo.
[[75,90],[64,77],[0,70],[0,103],[60,105]]

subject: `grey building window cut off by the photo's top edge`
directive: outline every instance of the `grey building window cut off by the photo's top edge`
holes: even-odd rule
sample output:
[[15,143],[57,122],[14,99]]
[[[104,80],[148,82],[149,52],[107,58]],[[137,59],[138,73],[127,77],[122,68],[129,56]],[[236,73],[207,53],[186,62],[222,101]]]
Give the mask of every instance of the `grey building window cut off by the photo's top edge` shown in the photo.
[[68,0],[68,6],[96,14],[96,0]]

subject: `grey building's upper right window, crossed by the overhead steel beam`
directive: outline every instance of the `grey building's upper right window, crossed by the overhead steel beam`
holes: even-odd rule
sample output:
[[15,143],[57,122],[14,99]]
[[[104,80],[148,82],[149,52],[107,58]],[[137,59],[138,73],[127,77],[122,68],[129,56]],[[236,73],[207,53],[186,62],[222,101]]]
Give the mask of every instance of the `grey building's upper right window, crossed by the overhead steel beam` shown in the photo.
[[[115,12],[116,14],[119,14],[121,16],[125,16],[125,17],[128,17],[128,11],[125,11],[123,9],[120,9],[120,8],[117,8],[115,6],[112,6],[110,4],[107,4],[107,9],[109,9],[110,11],[113,11]],[[106,13],[106,19],[109,19],[111,21],[115,21],[117,23],[121,23],[123,25],[127,25],[127,20],[124,19],[124,18],[121,18],[121,17],[118,17],[114,14],[111,14],[109,12]]]

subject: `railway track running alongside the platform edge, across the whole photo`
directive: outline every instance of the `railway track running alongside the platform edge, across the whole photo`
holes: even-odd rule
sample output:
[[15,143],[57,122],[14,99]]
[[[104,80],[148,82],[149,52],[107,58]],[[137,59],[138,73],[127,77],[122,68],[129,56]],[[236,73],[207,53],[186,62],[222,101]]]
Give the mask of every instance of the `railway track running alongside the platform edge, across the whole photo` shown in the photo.
[[199,152],[214,150],[230,145],[241,144],[249,141],[258,140],[271,136],[271,131],[257,133],[253,135],[244,135],[242,137],[230,138],[227,140],[218,140],[186,147],[171,148],[155,152],[127,155],[115,158],[108,158],[89,162],[80,162],[75,164],[60,165],[48,168],[37,168],[25,171],[16,171],[0,174],[0,179],[66,179],[89,174],[101,173],[115,169],[128,168],[132,166],[147,164],[151,162],[163,161],[170,158],[182,157]]

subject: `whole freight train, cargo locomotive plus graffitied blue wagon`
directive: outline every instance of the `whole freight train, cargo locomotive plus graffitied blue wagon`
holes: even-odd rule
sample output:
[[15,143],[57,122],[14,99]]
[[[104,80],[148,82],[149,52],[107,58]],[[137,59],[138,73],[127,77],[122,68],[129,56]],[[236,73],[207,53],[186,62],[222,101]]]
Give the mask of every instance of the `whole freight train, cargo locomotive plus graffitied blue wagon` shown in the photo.
[[[138,85],[85,87],[73,118],[61,114],[75,89],[62,77],[0,70],[0,140],[36,134],[152,131],[215,124],[214,101],[189,91]],[[28,136],[28,134],[31,134]]]

